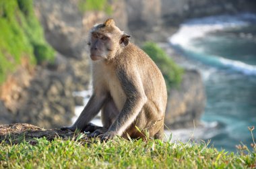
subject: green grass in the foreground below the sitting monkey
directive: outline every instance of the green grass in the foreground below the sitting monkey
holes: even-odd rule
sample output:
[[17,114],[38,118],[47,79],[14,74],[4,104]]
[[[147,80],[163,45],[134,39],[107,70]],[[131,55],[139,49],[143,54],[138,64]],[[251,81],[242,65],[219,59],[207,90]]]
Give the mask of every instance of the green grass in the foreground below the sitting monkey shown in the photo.
[[[80,138],[82,135],[80,135]],[[143,142],[119,137],[106,143],[74,139],[37,139],[0,144],[0,168],[253,168],[256,148],[240,154],[219,152],[207,144]]]

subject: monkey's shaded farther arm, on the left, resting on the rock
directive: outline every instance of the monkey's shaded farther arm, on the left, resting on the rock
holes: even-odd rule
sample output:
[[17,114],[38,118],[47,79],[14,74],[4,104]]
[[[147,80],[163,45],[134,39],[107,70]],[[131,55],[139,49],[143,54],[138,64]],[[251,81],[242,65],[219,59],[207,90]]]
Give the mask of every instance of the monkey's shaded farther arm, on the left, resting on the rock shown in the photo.
[[88,123],[100,111],[102,105],[104,104],[105,99],[106,99],[106,95],[103,95],[103,94],[97,95],[96,93],[94,93],[92,97],[90,97],[90,100],[88,101],[86,107],[84,107],[84,110],[79,115],[75,123],[69,127],[62,127],[61,129],[62,130],[70,129],[72,131],[75,131],[75,129],[80,129],[84,131]]

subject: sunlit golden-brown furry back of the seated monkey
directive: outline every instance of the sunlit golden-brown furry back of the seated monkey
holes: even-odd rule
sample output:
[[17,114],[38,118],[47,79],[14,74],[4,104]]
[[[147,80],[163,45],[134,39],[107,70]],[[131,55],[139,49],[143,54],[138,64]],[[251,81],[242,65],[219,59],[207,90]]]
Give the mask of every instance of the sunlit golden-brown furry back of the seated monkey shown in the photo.
[[139,74],[143,89],[148,97],[148,101],[154,103],[158,108],[159,113],[164,113],[167,102],[167,91],[164,77],[160,72],[158,66],[154,61],[141,50],[135,44],[129,43],[123,50],[123,54],[120,56],[124,65],[125,62],[130,62],[135,68],[130,71],[136,71]]

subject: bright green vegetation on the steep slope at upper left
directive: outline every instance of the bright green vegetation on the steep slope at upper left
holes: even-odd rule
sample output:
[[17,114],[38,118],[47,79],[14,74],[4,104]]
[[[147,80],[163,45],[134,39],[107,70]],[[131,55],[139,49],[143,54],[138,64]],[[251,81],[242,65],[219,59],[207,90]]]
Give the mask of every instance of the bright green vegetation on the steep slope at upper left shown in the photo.
[[33,10],[32,0],[0,0],[0,84],[22,58],[30,64],[53,62],[54,50]]

